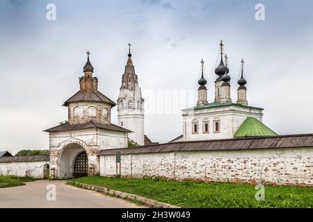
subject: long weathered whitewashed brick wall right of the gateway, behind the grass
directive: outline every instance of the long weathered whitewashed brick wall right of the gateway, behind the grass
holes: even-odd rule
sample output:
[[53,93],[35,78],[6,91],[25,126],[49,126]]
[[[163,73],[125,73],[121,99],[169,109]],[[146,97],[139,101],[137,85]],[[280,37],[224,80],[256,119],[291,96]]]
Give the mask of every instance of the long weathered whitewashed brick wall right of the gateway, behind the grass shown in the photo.
[[[100,157],[100,175],[114,176],[115,155]],[[121,156],[121,175],[176,180],[313,186],[313,148],[191,151]]]

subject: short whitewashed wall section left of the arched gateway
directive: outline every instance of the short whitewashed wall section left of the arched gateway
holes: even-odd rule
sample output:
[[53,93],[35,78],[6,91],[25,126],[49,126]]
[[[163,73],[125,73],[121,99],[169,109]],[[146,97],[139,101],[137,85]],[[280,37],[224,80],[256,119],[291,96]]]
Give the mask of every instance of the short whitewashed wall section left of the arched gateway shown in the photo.
[[45,164],[49,164],[49,161],[0,162],[0,175],[43,178]]

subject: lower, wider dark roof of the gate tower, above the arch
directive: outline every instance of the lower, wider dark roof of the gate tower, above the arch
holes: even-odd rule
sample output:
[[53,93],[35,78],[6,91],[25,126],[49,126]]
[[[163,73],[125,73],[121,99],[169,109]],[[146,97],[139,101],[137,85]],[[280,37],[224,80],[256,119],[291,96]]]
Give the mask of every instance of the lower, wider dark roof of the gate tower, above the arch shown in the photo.
[[67,130],[84,130],[89,128],[101,128],[104,130],[113,130],[113,131],[120,131],[120,132],[127,132],[131,133],[131,130],[127,130],[125,128],[122,128],[120,126],[116,126],[114,124],[102,124],[102,123],[96,123],[94,121],[89,121],[87,123],[81,123],[81,124],[70,124],[70,123],[63,123],[59,126],[55,126],[53,128],[49,128],[47,130],[44,130],[45,132],[54,132],[54,131],[67,131]]

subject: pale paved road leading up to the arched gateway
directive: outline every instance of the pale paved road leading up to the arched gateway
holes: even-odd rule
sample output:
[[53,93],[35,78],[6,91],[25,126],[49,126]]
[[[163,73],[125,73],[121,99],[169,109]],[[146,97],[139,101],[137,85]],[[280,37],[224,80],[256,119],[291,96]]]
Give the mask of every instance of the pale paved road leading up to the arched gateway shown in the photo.
[[[105,196],[94,191],[66,185],[66,180],[37,180],[25,186],[0,189],[3,207],[142,207],[127,200]],[[56,185],[56,201],[46,198],[47,185]]]

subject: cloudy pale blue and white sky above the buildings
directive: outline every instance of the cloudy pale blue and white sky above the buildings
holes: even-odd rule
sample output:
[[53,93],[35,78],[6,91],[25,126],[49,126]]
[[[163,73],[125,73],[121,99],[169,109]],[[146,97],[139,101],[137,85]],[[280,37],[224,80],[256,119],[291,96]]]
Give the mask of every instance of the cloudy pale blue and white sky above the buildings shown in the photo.
[[[55,21],[46,19],[48,3],[56,5]],[[255,19],[257,3],[264,21]],[[244,58],[248,103],[264,108],[264,123],[280,135],[313,133],[312,8],[312,1],[285,0],[1,0],[0,151],[49,148],[42,130],[67,119],[61,105],[79,89],[87,50],[99,91],[116,101],[129,42],[145,133],[155,142],[182,134],[179,109],[196,103],[202,58],[214,100],[220,39],[232,100]],[[173,95],[173,108],[162,94]],[[113,123],[116,115],[115,107]]]

